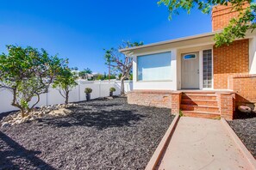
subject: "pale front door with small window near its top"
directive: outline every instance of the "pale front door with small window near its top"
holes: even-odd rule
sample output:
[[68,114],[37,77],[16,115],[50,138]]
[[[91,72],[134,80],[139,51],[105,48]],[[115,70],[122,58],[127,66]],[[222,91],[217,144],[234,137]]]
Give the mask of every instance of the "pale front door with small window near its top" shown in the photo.
[[199,52],[181,55],[181,88],[199,89]]

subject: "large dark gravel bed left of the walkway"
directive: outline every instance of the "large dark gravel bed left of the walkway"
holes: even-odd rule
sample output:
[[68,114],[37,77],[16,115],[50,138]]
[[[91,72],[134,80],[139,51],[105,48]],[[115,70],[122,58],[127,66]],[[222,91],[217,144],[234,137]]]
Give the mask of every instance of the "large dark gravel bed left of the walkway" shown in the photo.
[[170,109],[128,105],[126,98],[72,110],[0,128],[0,169],[144,169],[174,118]]

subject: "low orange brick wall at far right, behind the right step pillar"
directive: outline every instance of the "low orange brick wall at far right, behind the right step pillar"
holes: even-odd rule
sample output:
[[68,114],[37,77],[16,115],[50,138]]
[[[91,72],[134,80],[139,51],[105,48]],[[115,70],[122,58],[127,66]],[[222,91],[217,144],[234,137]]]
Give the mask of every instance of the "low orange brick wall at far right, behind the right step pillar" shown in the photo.
[[[235,105],[255,106],[256,104],[256,75],[232,76],[230,78],[230,88],[236,93]],[[254,107],[254,110],[255,107]]]

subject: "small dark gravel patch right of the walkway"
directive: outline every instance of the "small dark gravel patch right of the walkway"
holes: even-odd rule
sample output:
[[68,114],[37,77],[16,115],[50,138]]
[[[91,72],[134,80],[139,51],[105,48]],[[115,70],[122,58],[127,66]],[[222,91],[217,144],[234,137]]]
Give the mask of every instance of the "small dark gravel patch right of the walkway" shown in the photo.
[[228,124],[256,159],[256,113],[237,112],[237,115]]

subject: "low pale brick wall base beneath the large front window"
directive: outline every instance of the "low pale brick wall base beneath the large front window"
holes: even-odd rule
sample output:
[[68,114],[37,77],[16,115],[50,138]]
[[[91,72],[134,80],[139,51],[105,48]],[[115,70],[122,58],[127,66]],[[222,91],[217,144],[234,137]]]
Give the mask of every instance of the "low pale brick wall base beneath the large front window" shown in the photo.
[[172,91],[133,90],[128,93],[128,104],[172,108]]

